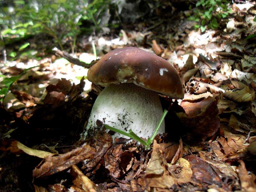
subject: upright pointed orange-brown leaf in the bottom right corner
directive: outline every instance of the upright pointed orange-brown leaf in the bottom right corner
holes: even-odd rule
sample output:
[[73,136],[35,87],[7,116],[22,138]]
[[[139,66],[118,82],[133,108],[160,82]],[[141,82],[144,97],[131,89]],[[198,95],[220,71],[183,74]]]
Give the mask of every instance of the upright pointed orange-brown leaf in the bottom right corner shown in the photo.
[[239,172],[238,176],[240,178],[242,191],[246,192],[255,192],[256,191],[256,184],[255,184],[255,175],[251,173],[248,174],[245,164],[242,160],[238,161],[240,165],[238,166]]

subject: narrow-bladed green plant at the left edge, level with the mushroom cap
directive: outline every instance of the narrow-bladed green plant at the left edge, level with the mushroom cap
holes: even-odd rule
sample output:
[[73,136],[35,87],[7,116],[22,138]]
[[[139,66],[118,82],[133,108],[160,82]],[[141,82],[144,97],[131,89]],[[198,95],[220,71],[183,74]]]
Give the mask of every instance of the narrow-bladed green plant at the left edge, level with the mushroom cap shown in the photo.
[[[28,70],[35,68],[35,67],[40,67],[40,66],[34,66],[34,67],[24,69],[24,71],[18,76],[7,77],[5,75],[0,75],[0,77],[4,77],[3,81],[1,81],[1,84],[3,84],[4,87],[2,89],[0,89],[0,95],[4,95],[4,97],[5,97],[5,95],[7,94],[8,90],[10,89],[12,84],[15,81],[17,81],[21,76],[23,76]],[[2,101],[4,99],[4,97],[2,97],[0,99],[0,101]]]

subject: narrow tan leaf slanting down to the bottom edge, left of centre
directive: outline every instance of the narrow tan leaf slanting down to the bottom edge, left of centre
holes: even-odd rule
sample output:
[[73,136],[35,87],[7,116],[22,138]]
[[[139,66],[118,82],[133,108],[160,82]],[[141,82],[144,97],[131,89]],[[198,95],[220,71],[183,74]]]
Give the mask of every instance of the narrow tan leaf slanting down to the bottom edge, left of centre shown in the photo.
[[72,182],[84,192],[101,191],[76,165],[72,165],[71,174],[73,176]]

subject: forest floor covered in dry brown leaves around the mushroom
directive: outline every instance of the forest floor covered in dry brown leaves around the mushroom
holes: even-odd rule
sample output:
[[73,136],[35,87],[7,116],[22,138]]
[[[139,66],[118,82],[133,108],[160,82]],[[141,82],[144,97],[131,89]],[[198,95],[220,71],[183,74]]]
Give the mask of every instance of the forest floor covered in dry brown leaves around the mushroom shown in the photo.
[[160,96],[166,133],[150,150],[104,130],[80,140],[102,87],[88,69],[46,53],[52,39],[30,38],[41,59],[0,63],[3,75],[19,77],[0,106],[0,191],[256,191],[256,37],[246,38],[256,7],[232,8],[204,33],[178,12],[124,26],[121,36],[78,39],[72,56],[86,63],[94,42],[98,57],[135,46],[179,72],[185,97]]

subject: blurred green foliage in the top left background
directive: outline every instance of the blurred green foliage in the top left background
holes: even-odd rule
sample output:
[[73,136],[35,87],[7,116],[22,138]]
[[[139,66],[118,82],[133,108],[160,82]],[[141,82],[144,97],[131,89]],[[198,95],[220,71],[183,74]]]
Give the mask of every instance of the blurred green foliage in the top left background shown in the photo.
[[81,20],[92,20],[96,28],[100,22],[100,14],[110,1],[94,0],[44,0],[23,1],[15,0],[11,6],[3,7],[0,12],[0,27],[5,44],[13,38],[24,38],[38,33],[52,36],[63,50],[62,40],[72,41],[72,51],[76,45],[77,35],[80,33]]

